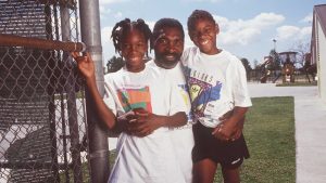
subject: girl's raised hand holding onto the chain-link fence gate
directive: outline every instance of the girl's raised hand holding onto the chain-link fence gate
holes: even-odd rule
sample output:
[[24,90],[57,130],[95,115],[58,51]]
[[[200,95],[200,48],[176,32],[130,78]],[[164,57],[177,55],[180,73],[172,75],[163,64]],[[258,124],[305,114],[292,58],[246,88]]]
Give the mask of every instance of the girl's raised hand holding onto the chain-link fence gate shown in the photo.
[[72,52],[72,56],[77,62],[78,69],[86,79],[95,77],[95,65],[88,52],[86,56],[80,56],[79,52]]

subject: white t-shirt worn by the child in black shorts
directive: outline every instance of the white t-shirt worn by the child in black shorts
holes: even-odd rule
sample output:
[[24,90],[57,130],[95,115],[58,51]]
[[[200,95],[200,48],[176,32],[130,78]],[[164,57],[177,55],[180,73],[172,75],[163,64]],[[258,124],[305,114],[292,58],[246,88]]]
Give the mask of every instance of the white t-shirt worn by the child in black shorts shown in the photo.
[[246,70],[240,60],[227,51],[215,55],[188,48],[181,56],[195,120],[214,128],[235,106],[249,107],[251,100]]

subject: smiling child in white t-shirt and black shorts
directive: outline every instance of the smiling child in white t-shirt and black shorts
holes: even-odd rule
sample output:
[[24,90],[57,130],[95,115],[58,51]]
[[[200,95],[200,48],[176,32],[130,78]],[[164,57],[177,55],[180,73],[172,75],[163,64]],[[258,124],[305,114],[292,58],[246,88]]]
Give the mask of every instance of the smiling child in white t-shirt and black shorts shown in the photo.
[[184,51],[181,62],[197,121],[193,182],[213,183],[220,164],[224,182],[238,183],[239,167],[249,157],[242,135],[244,114],[252,105],[246,70],[240,60],[217,48],[220,29],[209,12],[193,11],[188,32],[196,47]]

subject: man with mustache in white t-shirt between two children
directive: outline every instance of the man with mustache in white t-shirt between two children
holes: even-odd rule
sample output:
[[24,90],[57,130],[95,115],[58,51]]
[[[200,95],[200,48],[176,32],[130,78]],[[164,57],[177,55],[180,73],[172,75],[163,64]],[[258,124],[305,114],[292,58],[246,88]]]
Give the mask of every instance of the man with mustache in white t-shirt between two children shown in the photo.
[[179,128],[171,128],[174,149],[177,154],[183,174],[187,183],[192,182],[191,151],[193,147],[192,117],[186,79],[179,62],[184,51],[185,34],[183,25],[174,18],[161,18],[153,28],[151,49],[154,49],[155,58],[147,65],[159,67],[166,77],[174,81],[184,96],[188,107],[188,123]]

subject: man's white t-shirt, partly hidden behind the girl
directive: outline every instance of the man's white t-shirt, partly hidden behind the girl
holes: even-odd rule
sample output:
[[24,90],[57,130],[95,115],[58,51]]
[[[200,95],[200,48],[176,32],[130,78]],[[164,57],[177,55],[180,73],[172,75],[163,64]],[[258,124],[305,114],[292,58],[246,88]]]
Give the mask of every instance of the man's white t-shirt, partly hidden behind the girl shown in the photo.
[[188,94],[188,88],[186,79],[181,69],[181,64],[178,63],[174,68],[165,69],[156,66],[154,61],[147,63],[147,66],[158,67],[165,73],[166,78],[178,86],[179,92],[183,95],[184,102],[187,106],[187,125],[171,129],[172,140],[174,144],[174,149],[177,154],[177,160],[181,167],[183,174],[185,177],[186,183],[192,182],[192,160],[191,151],[193,147],[193,134],[192,134],[192,115],[191,115],[191,104]]

